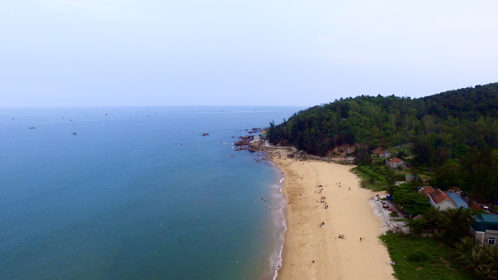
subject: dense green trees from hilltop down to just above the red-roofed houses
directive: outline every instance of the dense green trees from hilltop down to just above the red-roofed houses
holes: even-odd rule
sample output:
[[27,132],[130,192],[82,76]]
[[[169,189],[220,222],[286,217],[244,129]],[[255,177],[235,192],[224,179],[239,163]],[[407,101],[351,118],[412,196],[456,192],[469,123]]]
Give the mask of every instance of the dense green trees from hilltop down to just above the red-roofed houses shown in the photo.
[[342,144],[372,148],[412,142],[411,166],[436,170],[433,185],[498,199],[498,83],[423,98],[341,98],[270,123],[272,143],[326,155]]

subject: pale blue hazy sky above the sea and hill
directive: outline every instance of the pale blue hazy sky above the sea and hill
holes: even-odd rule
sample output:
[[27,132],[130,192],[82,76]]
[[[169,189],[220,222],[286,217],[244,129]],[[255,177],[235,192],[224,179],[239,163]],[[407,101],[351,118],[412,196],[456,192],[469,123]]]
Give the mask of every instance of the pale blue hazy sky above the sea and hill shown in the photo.
[[498,1],[4,0],[0,106],[314,106],[498,82]]

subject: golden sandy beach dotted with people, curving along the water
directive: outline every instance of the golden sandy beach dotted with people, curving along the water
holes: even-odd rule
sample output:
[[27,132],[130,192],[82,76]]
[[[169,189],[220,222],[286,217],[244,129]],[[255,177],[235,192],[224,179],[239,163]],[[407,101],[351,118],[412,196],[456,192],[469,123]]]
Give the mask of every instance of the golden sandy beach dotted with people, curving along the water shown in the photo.
[[[381,223],[369,205],[375,193],[360,188],[359,178],[350,172],[352,166],[295,161],[285,155],[278,158],[281,151],[271,153],[284,172],[282,193],[287,201],[277,280],[394,279],[387,250],[377,238]],[[322,196],[328,209],[320,203]]]

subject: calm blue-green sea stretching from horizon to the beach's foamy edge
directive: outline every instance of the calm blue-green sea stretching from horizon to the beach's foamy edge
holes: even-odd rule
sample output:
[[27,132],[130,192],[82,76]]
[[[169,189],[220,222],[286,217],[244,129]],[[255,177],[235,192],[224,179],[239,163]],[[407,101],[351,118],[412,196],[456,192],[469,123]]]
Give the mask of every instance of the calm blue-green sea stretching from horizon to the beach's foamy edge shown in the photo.
[[1,108],[0,279],[273,279],[281,173],[233,142],[301,109]]

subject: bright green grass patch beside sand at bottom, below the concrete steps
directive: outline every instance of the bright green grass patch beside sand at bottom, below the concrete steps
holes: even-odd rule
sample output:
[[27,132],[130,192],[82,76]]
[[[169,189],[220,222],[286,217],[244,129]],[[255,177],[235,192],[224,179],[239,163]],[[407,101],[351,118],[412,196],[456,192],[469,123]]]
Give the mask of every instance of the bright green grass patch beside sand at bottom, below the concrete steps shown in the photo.
[[387,232],[379,236],[389,252],[399,280],[473,280],[451,256],[448,246],[432,238],[412,238]]

